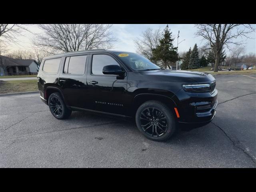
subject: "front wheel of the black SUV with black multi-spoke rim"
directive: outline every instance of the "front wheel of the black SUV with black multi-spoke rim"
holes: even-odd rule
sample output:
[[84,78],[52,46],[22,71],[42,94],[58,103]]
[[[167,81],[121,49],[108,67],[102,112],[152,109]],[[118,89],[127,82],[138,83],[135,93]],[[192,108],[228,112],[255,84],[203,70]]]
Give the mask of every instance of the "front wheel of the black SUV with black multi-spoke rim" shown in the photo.
[[143,103],[138,108],[135,119],[140,132],[154,141],[167,140],[176,131],[172,111],[164,103],[156,100]]

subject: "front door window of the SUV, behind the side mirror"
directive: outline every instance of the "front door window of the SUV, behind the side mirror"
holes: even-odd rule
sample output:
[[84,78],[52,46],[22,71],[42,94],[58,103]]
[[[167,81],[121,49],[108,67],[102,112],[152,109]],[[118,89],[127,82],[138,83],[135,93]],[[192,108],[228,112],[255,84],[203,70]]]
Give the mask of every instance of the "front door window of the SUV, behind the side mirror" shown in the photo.
[[114,58],[108,55],[93,55],[92,56],[92,74],[104,75],[102,69],[106,65],[118,65]]

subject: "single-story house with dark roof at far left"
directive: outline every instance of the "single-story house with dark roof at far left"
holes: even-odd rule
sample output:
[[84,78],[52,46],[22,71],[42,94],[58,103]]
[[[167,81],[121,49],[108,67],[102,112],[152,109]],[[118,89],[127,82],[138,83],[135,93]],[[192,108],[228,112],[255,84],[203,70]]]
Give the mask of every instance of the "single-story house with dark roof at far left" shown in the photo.
[[13,59],[0,55],[0,76],[37,74],[39,65],[32,59]]

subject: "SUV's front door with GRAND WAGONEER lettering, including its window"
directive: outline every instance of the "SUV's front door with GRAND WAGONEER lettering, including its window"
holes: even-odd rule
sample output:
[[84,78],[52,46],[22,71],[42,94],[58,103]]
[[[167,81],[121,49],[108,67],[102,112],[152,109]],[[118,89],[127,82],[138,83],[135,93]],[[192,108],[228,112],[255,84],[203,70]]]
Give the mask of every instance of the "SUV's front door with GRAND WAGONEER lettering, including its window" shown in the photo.
[[105,75],[102,69],[106,65],[122,64],[111,54],[95,53],[90,55],[87,84],[90,103],[93,110],[112,114],[126,114],[127,72],[124,76]]

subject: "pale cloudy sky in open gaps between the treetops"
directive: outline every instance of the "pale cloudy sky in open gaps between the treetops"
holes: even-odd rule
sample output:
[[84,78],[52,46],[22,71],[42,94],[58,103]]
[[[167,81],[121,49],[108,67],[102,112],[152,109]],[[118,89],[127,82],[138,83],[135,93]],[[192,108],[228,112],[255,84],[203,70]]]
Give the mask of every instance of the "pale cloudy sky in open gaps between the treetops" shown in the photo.
[[[193,24],[168,24],[169,29],[172,32],[174,40],[174,45],[177,46],[177,34],[178,30],[180,30],[179,42],[185,39],[185,41],[181,42],[178,46],[178,51],[188,51],[190,47],[193,47],[195,43],[198,46],[202,46],[204,42],[201,42],[200,37],[195,37],[196,27]],[[112,26],[112,32],[114,36],[118,39],[117,42],[114,43],[114,50],[122,50],[129,52],[136,52],[136,47],[134,46],[133,40],[136,37],[140,37],[142,32],[146,30],[148,27],[157,29],[164,29],[165,24],[114,24]],[[256,25],[254,25],[255,27]],[[32,25],[28,27],[29,30],[35,33],[40,33],[41,30],[37,25]],[[246,53],[256,52],[256,33],[251,33],[250,37],[254,39],[244,39],[246,42]],[[19,37],[18,39],[21,41],[20,45],[12,44],[8,46],[9,51],[18,50],[18,49],[26,49],[26,50],[34,50],[32,47],[31,40],[34,38],[34,35],[29,32],[24,32],[24,36]],[[228,53],[228,51],[226,51]]]

